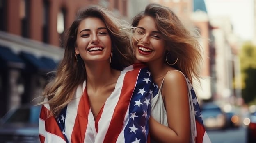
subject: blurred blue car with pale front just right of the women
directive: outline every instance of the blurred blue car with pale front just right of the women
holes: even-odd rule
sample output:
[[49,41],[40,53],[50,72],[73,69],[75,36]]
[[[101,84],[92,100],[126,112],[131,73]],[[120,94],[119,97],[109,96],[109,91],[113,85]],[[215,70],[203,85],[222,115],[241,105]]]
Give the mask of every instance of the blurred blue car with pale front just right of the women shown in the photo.
[[219,105],[212,102],[204,103],[201,105],[201,112],[206,130],[226,129],[226,114]]

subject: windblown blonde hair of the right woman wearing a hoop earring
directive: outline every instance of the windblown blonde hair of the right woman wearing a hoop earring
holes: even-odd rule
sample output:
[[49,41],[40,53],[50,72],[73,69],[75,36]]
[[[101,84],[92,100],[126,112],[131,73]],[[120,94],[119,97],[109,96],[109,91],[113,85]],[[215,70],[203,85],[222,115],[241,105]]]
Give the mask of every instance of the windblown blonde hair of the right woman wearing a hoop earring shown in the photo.
[[[160,31],[165,40],[165,57],[163,62],[166,63],[166,56],[168,60],[178,61],[175,65],[170,65],[185,74],[192,82],[195,78],[199,80],[200,66],[202,63],[202,47],[199,44],[198,33],[190,32],[176,14],[168,7],[160,4],[148,4],[144,11],[137,14],[132,21],[132,26],[137,27],[139,21],[145,16],[151,16],[155,20],[156,28]],[[169,51],[169,54],[167,54]]]

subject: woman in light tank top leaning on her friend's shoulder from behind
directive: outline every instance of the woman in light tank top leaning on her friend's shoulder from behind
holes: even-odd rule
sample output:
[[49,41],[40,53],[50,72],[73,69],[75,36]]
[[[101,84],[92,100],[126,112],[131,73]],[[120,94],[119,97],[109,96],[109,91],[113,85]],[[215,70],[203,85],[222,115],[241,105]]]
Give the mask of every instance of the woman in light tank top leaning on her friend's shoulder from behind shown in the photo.
[[199,79],[201,46],[168,7],[149,4],[134,17],[134,49],[159,91],[151,99],[153,143],[210,143],[192,87]]

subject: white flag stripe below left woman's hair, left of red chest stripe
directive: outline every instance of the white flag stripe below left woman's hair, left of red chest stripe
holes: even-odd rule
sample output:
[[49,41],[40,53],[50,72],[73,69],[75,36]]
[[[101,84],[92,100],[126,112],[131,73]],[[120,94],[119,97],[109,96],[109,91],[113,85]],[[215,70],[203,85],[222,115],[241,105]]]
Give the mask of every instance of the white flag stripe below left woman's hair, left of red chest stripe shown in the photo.
[[78,86],[73,100],[67,106],[67,113],[66,113],[66,119],[65,119],[65,134],[69,143],[71,143],[71,135],[75,125],[75,118],[78,112],[78,104],[82,97],[84,88],[85,88],[85,82],[83,83],[82,86],[81,85]]

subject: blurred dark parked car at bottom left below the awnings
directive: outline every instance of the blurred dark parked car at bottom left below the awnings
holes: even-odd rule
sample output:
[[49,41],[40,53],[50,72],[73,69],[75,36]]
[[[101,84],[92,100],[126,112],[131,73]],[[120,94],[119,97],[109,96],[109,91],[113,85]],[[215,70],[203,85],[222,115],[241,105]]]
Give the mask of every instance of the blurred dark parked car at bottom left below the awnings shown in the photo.
[[23,105],[7,112],[0,120],[0,143],[39,143],[40,109]]

